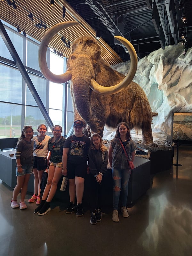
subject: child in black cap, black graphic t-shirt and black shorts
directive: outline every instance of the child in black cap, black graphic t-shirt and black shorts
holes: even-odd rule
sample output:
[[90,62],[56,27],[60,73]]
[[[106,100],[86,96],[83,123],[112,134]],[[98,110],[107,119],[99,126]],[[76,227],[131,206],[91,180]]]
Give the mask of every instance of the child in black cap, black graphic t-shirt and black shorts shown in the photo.
[[75,134],[68,137],[63,147],[63,175],[69,179],[70,204],[66,213],[70,214],[75,209],[75,197],[77,199],[76,215],[83,215],[82,198],[84,192],[84,178],[87,173],[87,155],[90,139],[85,136],[83,122],[76,120],[73,125]]

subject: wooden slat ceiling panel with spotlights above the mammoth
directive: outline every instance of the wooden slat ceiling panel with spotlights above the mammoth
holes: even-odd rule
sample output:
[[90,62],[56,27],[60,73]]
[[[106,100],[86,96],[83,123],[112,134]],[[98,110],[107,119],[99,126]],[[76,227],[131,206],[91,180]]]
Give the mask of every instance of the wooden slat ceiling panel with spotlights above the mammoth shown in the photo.
[[[41,21],[46,24],[48,29],[53,25],[64,21],[79,22],[77,26],[61,30],[52,38],[49,44],[51,48],[62,52],[63,56],[65,57],[68,57],[69,54],[71,54],[71,47],[69,49],[62,42],[60,39],[62,36],[66,37],[66,41],[68,42],[69,40],[70,44],[72,44],[80,36],[95,37],[95,31],[65,0],[62,2],[56,0],[53,6],[50,5],[49,0],[18,0],[15,1],[15,4],[17,9],[9,6],[7,1],[0,0],[0,19],[14,26],[16,30],[17,27],[19,27],[21,31],[25,30],[29,36],[38,41],[41,41],[42,37],[46,33],[44,28],[39,29],[35,26],[35,24],[40,23]],[[65,18],[62,17],[63,6],[66,7]],[[28,17],[30,12],[33,14],[34,22]],[[14,45],[14,42],[12,43]],[[101,47],[101,57],[110,65],[123,61],[102,38],[98,40],[98,44]]]

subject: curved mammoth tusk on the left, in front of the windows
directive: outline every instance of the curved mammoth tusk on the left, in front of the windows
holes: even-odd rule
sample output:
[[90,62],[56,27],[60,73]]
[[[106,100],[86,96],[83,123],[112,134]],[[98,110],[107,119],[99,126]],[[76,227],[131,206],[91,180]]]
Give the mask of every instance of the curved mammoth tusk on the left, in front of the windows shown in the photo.
[[49,81],[53,83],[62,84],[69,81],[71,79],[71,72],[67,71],[64,74],[55,75],[49,70],[47,66],[47,61],[46,61],[46,53],[47,53],[47,47],[49,45],[49,42],[51,41],[52,37],[55,34],[57,34],[60,30],[71,27],[71,26],[75,26],[77,24],[79,23],[76,21],[66,21],[66,22],[61,22],[59,24],[56,24],[47,31],[47,33],[44,35],[44,37],[41,40],[41,43],[39,45],[39,52],[38,52],[39,67],[41,69],[42,74]]

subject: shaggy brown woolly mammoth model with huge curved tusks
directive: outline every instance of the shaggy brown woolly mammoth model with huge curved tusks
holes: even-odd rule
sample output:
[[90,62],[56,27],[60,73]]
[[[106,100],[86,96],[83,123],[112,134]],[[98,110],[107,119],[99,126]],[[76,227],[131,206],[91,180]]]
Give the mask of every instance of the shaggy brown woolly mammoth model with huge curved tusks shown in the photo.
[[116,36],[129,50],[131,66],[127,76],[115,71],[100,57],[100,46],[89,36],[78,38],[72,45],[68,57],[67,72],[53,74],[46,64],[46,51],[52,37],[60,30],[74,26],[77,22],[62,22],[48,30],[39,46],[39,66],[43,75],[54,83],[71,84],[74,119],[88,124],[92,132],[103,136],[104,125],[116,128],[119,122],[126,122],[130,129],[142,129],[142,143],[153,142],[152,113],[143,89],[132,82],[137,69],[137,55],[130,42]]

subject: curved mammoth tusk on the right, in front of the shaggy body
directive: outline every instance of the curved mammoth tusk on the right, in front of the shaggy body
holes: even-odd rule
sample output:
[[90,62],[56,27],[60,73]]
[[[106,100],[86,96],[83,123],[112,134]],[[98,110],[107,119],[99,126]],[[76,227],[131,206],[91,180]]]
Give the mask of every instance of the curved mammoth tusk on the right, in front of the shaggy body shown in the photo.
[[98,84],[92,78],[91,82],[90,82],[90,88],[93,91],[98,92],[100,94],[115,94],[115,93],[121,92],[125,87],[127,87],[131,83],[131,81],[133,80],[133,77],[135,76],[136,70],[137,70],[137,54],[136,54],[135,49],[132,46],[132,44],[122,36],[114,36],[114,37],[118,41],[120,41],[122,44],[124,44],[124,46],[126,46],[126,48],[129,50],[129,54],[131,57],[131,65],[130,65],[129,72],[127,73],[125,78],[119,84],[105,87],[105,86]]

